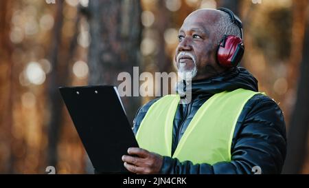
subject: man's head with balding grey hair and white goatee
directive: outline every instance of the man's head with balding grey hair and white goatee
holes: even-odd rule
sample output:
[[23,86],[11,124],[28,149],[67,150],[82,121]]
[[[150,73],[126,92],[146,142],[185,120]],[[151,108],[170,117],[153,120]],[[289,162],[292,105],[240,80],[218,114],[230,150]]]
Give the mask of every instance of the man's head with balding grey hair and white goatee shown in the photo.
[[178,72],[191,74],[193,80],[224,72],[227,68],[216,63],[216,51],[225,33],[240,36],[239,28],[231,23],[226,12],[200,9],[187,16],[179,30],[176,48]]

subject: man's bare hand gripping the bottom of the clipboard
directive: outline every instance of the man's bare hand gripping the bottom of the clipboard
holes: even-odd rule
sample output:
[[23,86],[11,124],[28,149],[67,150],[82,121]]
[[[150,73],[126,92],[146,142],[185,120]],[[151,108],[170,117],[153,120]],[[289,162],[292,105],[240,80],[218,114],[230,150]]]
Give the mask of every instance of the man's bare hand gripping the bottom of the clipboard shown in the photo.
[[163,157],[159,154],[148,152],[139,147],[130,147],[128,154],[131,156],[122,156],[124,167],[128,171],[136,174],[159,174],[163,163]]

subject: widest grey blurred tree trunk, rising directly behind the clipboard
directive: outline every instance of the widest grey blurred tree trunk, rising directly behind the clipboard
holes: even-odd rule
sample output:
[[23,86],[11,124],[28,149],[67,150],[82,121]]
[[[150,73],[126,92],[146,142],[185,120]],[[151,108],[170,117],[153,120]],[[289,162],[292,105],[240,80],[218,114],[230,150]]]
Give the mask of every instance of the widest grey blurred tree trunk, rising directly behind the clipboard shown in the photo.
[[[117,75],[140,61],[141,7],[139,1],[89,1],[89,85],[117,85]],[[139,107],[138,97],[122,98],[130,122]]]

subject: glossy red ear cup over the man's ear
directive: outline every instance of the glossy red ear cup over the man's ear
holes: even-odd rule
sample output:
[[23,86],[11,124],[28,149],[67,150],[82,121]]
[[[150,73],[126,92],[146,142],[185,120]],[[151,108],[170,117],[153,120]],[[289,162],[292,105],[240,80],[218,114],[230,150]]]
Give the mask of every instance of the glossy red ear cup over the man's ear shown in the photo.
[[242,60],[244,43],[238,36],[225,36],[217,50],[217,62],[222,67],[236,67]]

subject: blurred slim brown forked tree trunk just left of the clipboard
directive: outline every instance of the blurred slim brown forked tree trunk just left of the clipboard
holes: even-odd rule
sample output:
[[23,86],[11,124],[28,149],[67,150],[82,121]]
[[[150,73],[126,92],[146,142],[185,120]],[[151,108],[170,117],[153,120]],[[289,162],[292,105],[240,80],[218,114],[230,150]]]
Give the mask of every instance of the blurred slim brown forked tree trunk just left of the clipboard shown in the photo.
[[[54,70],[49,76],[48,95],[49,95],[49,109],[51,113],[51,120],[49,121],[49,147],[48,147],[48,165],[55,166],[58,163],[57,145],[59,142],[59,134],[62,127],[63,113],[62,109],[64,103],[60,97],[58,87],[65,86],[69,82],[69,62],[73,59],[77,48],[78,39],[78,27],[80,25],[80,19],[82,17],[80,7],[76,15],[74,34],[71,37],[71,41],[67,46],[62,45],[61,42],[61,30],[63,22],[63,2],[58,4],[58,10],[56,12],[56,25],[54,28],[53,44],[51,48],[50,59]],[[65,50],[63,50],[65,49]],[[65,51],[63,53],[62,51]]]

